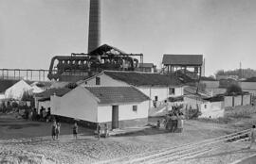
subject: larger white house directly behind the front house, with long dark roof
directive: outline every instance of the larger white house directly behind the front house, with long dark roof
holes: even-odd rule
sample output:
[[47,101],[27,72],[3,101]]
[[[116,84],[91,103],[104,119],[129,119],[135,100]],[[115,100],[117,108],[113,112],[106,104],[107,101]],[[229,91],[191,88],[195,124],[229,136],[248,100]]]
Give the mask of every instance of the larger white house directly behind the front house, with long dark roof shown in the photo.
[[103,71],[81,82],[81,86],[134,86],[146,94],[152,101],[149,108],[161,104],[169,97],[183,95],[183,87],[175,77],[141,73],[141,72],[120,72]]

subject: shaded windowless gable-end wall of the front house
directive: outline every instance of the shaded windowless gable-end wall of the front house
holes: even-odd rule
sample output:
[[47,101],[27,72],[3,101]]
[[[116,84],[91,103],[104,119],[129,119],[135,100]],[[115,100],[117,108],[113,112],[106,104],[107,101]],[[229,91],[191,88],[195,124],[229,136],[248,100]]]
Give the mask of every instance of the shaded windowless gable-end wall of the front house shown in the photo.
[[51,102],[51,113],[54,115],[97,123],[98,103],[82,87],[67,92],[63,97],[51,96]]

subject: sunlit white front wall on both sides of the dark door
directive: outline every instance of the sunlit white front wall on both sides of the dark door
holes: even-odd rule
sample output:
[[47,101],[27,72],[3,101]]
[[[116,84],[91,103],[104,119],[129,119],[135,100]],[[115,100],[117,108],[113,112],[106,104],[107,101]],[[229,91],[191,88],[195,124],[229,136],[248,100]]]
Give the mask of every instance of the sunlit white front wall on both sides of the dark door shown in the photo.
[[[133,111],[133,106],[137,105],[137,112]],[[148,117],[148,101],[127,105],[119,105],[119,121],[134,120]],[[99,123],[112,122],[112,106],[98,107]]]

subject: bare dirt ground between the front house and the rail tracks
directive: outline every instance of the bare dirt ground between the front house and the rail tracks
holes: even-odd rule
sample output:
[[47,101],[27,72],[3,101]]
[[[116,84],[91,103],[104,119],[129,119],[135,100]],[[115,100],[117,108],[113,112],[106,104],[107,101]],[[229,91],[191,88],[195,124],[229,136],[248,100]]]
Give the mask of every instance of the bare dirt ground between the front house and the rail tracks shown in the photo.
[[[150,119],[152,123],[156,123],[156,120],[158,118]],[[255,123],[255,120],[255,114],[251,118],[234,119],[230,123],[192,120],[185,122],[183,133],[145,129],[134,134],[107,139],[97,139],[93,136],[93,130],[80,127],[77,140],[72,138],[72,125],[62,123],[60,139],[52,140],[49,136],[51,123],[16,120],[10,115],[1,115],[0,163],[10,159],[22,163],[22,158],[27,156],[30,157],[29,160],[40,158],[41,163],[94,163],[223,136],[245,129]],[[230,150],[230,147],[227,149]],[[205,163],[207,160],[200,158],[187,162]]]

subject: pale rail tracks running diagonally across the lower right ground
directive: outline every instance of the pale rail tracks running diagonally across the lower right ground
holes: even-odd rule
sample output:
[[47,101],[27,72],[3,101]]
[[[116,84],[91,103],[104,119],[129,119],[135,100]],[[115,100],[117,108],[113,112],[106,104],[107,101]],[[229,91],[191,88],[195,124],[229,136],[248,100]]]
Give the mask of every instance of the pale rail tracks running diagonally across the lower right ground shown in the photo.
[[135,156],[124,156],[116,159],[105,160],[98,163],[101,164],[112,164],[112,163],[123,163],[123,164],[138,164],[138,163],[173,163],[179,160],[192,158],[195,156],[204,155],[214,149],[223,146],[223,143],[228,142],[239,142],[248,139],[249,129],[240,132],[232,133],[226,136],[205,139],[199,142],[176,146],[173,148],[161,149],[153,152],[138,154]]

